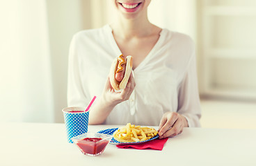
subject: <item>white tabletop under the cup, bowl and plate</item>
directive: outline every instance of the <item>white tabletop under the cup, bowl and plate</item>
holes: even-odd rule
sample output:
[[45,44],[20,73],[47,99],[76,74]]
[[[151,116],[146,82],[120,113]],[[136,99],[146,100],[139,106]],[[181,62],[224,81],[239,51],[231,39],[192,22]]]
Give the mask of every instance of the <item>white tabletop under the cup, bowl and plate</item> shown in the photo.
[[[89,131],[117,126],[92,125]],[[1,123],[0,165],[256,165],[255,129],[186,128],[162,151],[108,145],[86,156],[67,143],[65,124]]]

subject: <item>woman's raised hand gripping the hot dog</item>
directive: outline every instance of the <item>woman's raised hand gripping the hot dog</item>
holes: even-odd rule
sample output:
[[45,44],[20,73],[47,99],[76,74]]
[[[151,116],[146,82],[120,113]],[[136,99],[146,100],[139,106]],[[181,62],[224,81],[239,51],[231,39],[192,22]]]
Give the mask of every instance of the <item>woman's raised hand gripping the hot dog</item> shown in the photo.
[[104,100],[104,104],[115,106],[120,102],[124,102],[125,100],[129,100],[131,93],[134,91],[134,87],[136,83],[134,82],[134,76],[130,75],[126,88],[123,91],[116,92],[115,89],[110,84],[109,77],[106,81],[104,91],[102,93],[102,99]]

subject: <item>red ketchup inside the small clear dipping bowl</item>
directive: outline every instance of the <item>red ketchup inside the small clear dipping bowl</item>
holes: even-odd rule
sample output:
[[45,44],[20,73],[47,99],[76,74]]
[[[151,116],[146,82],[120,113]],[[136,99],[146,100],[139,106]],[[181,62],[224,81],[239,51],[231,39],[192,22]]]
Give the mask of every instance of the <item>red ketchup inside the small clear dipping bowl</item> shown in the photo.
[[102,140],[102,138],[83,138],[77,142],[77,146],[83,154],[96,155],[101,154],[108,143],[108,140]]

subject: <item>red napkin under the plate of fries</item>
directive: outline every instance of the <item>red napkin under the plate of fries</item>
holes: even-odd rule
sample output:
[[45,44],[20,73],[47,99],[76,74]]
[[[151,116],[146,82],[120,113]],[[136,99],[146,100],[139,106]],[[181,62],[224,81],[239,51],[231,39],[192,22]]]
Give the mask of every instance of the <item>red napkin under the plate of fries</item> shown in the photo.
[[162,150],[163,145],[166,143],[168,138],[163,139],[155,139],[148,142],[144,142],[141,144],[133,144],[133,145],[116,145],[119,148],[134,148],[134,149],[154,149],[154,150]]

